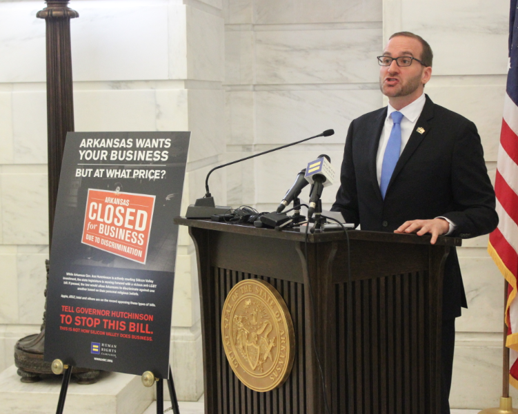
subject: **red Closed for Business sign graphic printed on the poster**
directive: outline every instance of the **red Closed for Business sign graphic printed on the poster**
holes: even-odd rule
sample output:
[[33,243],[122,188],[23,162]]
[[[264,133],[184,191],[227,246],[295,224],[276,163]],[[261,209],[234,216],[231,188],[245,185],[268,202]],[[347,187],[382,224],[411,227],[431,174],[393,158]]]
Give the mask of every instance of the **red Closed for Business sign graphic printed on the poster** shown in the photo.
[[155,196],[88,189],[81,241],[145,264],[154,208]]

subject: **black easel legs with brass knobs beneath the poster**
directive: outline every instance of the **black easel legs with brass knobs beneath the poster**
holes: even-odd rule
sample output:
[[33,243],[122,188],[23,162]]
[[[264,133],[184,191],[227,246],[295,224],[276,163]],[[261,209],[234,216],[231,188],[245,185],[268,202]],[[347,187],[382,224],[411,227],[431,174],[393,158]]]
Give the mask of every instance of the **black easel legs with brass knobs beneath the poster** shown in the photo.
[[[54,360],[52,362],[52,372],[56,375],[63,373],[63,381],[61,382],[61,390],[59,391],[56,414],[63,414],[63,408],[65,408],[65,400],[68,392],[68,384],[70,384],[70,377],[72,377],[73,368],[74,367],[72,365],[63,364],[61,360]],[[163,414],[163,379],[155,377],[153,381],[157,384],[157,414]],[[168,411],[172,410],[174,414],[180,414],[175,382],[172,380],[171,364],[169,364],[169,377],[167,382],[169,395],[171,397],[171,408],[169,408]],[[147,386],[146,384],[144,385]]]

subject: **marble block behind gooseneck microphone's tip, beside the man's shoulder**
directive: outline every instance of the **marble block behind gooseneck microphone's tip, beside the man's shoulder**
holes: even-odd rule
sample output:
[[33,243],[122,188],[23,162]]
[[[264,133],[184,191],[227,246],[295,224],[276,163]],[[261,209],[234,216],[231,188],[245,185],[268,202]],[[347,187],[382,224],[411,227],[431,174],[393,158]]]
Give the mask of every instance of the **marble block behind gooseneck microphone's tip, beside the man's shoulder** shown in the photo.
[[350,121],[381,107],[379,90],[255,92],[256,143],[289,143],[328,130],[313,143],[345,143]]

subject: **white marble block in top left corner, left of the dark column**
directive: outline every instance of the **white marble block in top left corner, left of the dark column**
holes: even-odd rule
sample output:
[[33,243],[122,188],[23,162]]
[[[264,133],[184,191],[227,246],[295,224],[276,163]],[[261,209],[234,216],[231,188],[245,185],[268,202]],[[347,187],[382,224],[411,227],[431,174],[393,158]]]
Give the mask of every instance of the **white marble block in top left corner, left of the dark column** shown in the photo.
[[45,21],[42,1],[0,2],[0,83],[44,82]]

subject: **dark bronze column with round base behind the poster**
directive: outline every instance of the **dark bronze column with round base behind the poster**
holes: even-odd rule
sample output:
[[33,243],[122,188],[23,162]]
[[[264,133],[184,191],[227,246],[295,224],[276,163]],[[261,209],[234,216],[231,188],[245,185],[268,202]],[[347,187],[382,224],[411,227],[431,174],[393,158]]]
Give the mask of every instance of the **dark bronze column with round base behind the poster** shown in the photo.
[[[46,21],[47,49],[47,131],[48,131],[48,236],[49,249],[56,209],[61,160],[67,132],[74,131],[72,95],[72,50],[70,48],[70,19],[79,13],[68,8],[68,0],[47,0],[47,7],[37,13]],[[47,280],[48,280],[48,262]],[[45,291],[46,296],[47,291]],[[22,338],[14,346],[14,363],[22,382],[34,382],[40,374],[51,374],[50,363],[43,361],[45,318],[41,332]],[[79,382],[95,382],[99,371],[74,369]]]

